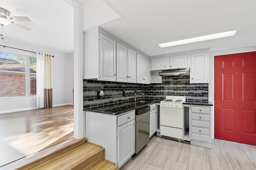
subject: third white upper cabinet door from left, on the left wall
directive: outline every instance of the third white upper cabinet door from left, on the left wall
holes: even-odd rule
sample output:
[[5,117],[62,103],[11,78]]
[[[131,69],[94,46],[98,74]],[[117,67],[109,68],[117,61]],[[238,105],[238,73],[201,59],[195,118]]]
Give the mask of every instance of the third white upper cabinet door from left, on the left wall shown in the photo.
[[128,82],[136,83],[136,52],[128,49]]

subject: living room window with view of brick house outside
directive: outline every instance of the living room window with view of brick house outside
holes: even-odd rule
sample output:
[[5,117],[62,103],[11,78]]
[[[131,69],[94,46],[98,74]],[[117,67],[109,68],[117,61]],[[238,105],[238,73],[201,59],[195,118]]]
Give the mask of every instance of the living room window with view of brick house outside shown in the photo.
[[36,95],[36,58],[0,52],[0,97]]

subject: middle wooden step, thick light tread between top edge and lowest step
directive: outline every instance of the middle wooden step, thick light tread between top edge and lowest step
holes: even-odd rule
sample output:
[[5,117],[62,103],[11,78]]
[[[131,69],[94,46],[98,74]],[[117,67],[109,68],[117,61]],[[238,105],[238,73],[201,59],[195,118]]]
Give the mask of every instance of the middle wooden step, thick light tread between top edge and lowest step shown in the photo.
[[92,169],[105,158],[105,149],[89,143],[84,143],[68,152],[52,158],[32,170],[72,170]]

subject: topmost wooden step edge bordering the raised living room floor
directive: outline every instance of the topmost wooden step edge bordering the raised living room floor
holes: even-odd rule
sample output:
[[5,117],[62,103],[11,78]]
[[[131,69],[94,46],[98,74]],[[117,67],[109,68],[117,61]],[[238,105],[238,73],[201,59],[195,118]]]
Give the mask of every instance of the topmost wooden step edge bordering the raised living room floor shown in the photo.
[[67,141],[59,143],[52,147],[48,147],[44,150],[41,150],[39,152],[36,152],[34,154],[31,154],[29,156],[26,156],[24,158],[21,158],[19,160],[16,160],[14,162],[1,166],[0,170],[14,170],[14,169],[24,170],[24,169],[33,168],[39,164],[42,164],[43,162],[46,162],[52,159],[55,156],[58,156],[64,152],[67,152],[68,150],[74,149],[84,144],[86,141],[87,141],[86,138],[69,139]]

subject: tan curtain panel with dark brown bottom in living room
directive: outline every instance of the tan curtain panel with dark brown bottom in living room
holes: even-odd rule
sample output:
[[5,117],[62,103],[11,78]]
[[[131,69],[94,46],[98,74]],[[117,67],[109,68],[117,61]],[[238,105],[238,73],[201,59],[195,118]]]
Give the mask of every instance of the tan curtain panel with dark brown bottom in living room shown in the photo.
[[52,107],[52,56],[44,55],[44,108]]

